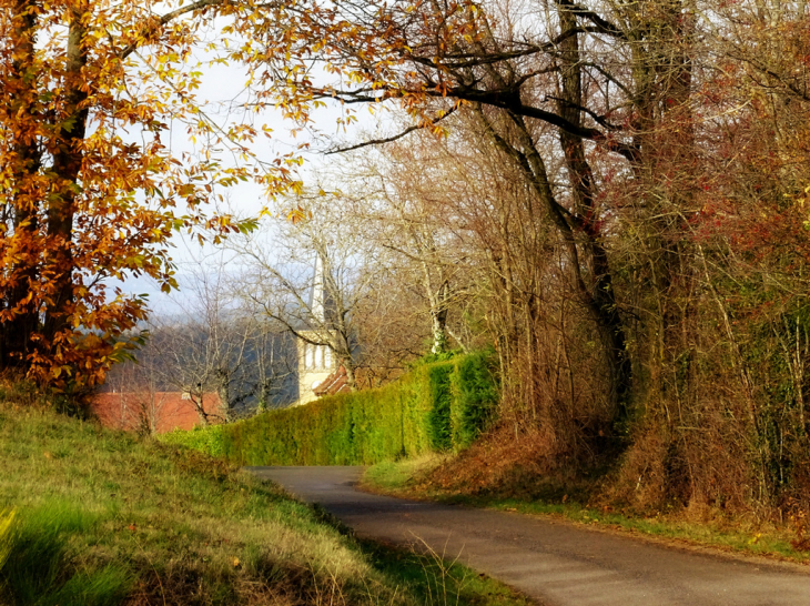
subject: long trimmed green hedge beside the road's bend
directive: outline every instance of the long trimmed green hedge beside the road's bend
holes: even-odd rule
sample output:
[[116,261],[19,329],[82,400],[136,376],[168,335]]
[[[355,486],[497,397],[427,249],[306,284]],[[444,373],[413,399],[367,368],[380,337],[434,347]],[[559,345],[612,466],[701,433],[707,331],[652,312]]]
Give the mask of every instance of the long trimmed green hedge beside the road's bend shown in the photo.
[[498,388],[488,352],[425,361],[395,383],[161,440],[239,465],[367,465],[468,446]]

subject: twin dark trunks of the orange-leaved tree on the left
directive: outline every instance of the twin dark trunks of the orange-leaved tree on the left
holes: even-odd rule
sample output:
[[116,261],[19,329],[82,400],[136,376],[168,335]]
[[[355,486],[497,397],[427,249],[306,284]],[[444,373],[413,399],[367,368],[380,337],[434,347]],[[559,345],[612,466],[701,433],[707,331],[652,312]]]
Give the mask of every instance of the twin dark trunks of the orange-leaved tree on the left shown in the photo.
[[[82,142],[87,131],[88,98],[87,78],[82,70],[87,63],[83,48],[85,29],[82,20],[85,6],[77,2],[70,9],[68,48],[61,85],[64,103],[53,118],[41,115],[39,110],[36,73],[36,33],[39,27],[37,11],[31,2],[18,1],[14,6],[13,37],[14,59],[10,78],[4,85],[13,89],[20,117],[13,134],[16,165],[13,180],[17,190],[13,199],[14,242],[19,248],[18,261],[9,270],[10,284],[2,301],[0,319],[0,365],[28,367],[28,357],[36,349],[52,350],[58,346],[54,337],[62,332],[72,313],[73,303],[73,216],[82,166]],[[57,137],[48,132],[49,121],[59,122]],[[40,175],[43,153],[52,156],[49,175]],[[47,208],[42,208],[47,200]],[[44,218],[41,213],[44,211]],[[8,212],[8,211],[7,211]],[[47,234],[41,235],[42,222]],[[48,277],[44,281],[44,277]],[[45,300],[44,309],[39,302]],[[41,340],[33,341],[34,334]]]

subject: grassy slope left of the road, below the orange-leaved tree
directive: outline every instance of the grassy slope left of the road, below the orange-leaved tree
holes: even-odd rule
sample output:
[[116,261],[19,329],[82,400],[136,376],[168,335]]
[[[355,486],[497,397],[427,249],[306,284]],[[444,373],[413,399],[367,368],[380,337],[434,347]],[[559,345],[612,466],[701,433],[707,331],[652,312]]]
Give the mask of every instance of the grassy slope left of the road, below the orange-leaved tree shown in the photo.
[[426,579],[446,564],[360,544],[277,486],[194,451],[4,393],[0,604],[525,603],[494,582],[469,593],[477,575],[460,567],[442,596],[425,593],[393,562],[411,558]]

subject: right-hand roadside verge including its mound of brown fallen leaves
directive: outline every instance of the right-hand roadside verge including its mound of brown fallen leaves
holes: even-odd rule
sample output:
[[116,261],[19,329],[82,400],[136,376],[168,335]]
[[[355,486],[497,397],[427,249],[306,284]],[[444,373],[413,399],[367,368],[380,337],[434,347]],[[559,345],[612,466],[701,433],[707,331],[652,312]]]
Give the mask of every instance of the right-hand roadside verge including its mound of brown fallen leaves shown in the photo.
[[[454,456],[383,463],[371,467],[364,487],[417,499],[551,515],[577,524],[675,541],[684,545],[810,563],[807,516],[740,514],[697,501],[657,508],[616,498],[609,475],[588,476],[549,461],[539,436],[493,433]],[[642,478],[644,479],[644,478]],[[641,483],[642,484],[642,483]],[[642,489],[644,486],[639,487]]]

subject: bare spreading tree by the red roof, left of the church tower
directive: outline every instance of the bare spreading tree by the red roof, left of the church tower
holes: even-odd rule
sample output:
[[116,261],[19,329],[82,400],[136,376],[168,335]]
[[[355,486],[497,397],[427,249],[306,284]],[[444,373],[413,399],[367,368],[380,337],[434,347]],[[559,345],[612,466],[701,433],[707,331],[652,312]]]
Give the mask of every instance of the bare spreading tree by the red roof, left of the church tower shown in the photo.
[[[186,264],[175,311],[153,315],[134,371],[158,391],[183,393],[202,424],[283,404],[296,370],[281,326],[240,306],[230,262],[219,251]],[[212,393],[216,406],[205,401]]]

